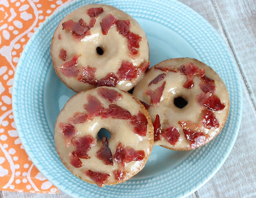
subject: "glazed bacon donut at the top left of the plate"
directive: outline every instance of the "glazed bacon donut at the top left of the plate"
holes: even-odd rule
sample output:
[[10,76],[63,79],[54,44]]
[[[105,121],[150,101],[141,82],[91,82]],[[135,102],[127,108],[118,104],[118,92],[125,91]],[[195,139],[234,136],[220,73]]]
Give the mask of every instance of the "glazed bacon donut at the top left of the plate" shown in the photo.
[[58,77],[76,92],[99,86],[128,91],[149,67],[149,46],[130,15],[110,5],[88,4],[57,26],[51,58]]

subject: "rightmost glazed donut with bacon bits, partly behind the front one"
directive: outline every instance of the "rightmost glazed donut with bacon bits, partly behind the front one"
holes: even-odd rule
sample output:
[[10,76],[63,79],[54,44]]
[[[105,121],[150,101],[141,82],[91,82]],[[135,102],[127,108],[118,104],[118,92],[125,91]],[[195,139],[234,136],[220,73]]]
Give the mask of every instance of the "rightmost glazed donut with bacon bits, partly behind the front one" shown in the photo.
[[132,94],[151,117],[154,145],[172,150],[192,150],[209,143],[222,130],[230,107],[220,76],[191,58],[154,65]]

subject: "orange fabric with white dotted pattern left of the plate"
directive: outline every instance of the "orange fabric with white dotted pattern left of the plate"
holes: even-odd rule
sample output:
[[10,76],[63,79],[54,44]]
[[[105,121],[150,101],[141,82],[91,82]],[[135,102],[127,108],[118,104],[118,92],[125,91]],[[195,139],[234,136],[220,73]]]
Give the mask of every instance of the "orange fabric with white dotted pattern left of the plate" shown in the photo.
[[56,9],[71,0],[0,0],[0,189],[57,193],[25,153],[13,121],[15,67],[29,38]]

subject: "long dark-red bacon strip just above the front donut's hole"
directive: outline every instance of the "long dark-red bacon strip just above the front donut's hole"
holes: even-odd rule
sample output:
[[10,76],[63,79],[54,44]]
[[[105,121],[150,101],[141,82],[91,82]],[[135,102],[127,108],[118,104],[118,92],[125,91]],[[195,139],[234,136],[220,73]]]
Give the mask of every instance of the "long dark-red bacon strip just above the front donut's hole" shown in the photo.
[[109,108],[101,114],[102,119],[114,118],[123,120],[132,120],[133,117],[131,113],[115,104],[109,104]]

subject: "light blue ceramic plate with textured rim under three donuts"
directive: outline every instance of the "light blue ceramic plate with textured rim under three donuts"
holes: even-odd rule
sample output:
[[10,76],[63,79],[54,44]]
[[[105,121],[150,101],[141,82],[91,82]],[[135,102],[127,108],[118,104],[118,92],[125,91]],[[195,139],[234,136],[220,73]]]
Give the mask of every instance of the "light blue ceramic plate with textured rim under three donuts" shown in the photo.
[[[65,102],[75,93],[55,74],[50,44],[55,28],[71,11],[88,3],[126,11],[145,30],[154,65],[169,58],[196,58],[220,74],[230,94],[226,125],[213,141],[194,151],[154,147],[145,168],[129,181],[98,188],[72,175],[55,148],[53,128]],[[230,153],[241,123],[242,87],[235,60],[216,30],[198,13],[175,1],[77,0],[51,15],[29,40],[13,85],[13,113],[22,144],[35,166],[73,197],[184,197],[205,184]]]

